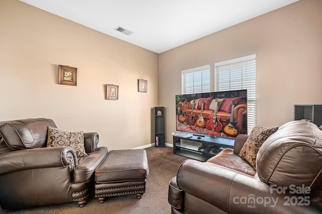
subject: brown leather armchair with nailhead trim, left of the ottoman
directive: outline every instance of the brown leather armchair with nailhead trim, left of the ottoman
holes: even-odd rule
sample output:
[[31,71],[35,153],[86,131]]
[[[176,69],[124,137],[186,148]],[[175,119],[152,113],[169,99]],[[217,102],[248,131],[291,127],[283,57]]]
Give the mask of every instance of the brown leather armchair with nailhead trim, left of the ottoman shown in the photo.
[[0,205],[2,209],[77,201],[86,204],[95,169],[108,154],[97,147],[99,135],[84,133],[88,156],[73,148],[46,147],[51,119],[0,123]]

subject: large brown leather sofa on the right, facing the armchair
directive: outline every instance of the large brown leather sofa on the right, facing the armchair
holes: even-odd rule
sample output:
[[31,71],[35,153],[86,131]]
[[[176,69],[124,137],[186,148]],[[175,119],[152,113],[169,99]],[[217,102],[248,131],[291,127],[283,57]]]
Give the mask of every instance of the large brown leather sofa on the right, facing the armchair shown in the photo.
[[247,138],[206,162],[184,161],[169,183],[172,213],[322,213],[322,131],[305,121],[280,126],[256,170],[238,156]]

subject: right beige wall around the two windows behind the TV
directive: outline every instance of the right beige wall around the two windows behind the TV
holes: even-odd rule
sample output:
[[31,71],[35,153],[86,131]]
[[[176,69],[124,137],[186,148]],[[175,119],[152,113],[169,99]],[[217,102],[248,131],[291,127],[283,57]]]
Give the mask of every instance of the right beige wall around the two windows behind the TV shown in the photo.
[[301,0],[160,54],[166,141],[176,132],[175,95],[181,94],[181,71],[189,68],[210,65],[212,72],[216,62],[257,54],[258,125],[293,120],[294,104],[322,104],[321,12],[322,1]]

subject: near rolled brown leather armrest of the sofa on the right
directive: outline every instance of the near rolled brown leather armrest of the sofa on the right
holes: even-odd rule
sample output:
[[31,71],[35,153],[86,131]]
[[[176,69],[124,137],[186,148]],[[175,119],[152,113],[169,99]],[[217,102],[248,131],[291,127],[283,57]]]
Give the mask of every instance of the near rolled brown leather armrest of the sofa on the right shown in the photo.
[[321,207],[306,200],[305,205],[288,205],[288,198],[296,195],[278,194],[264,182],[207,162],[184,161],[178,169],[177,184],[183,191],[227,213],[321,212]]

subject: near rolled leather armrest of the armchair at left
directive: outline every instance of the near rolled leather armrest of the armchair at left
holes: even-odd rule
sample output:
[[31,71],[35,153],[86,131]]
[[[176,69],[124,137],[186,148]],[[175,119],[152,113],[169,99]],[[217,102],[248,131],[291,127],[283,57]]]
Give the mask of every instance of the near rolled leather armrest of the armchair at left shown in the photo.
[[7,152],[0,155],[0,175],[15,171],[68,166],[71,164],[69,153],[77,165],[77,157],[73,148],[42,147]]

